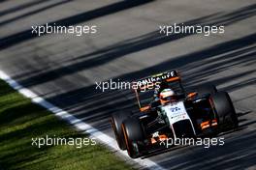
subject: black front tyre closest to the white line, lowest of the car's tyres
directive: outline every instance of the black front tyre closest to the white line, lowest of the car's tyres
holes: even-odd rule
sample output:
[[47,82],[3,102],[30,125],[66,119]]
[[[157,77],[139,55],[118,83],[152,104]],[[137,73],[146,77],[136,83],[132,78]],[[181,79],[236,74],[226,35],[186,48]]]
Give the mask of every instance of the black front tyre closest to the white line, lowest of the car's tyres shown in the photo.
[[144,130],[140,121],[135,118],[126,119],[122,124],[122,130],[128,155],[132,158],[142,156]]

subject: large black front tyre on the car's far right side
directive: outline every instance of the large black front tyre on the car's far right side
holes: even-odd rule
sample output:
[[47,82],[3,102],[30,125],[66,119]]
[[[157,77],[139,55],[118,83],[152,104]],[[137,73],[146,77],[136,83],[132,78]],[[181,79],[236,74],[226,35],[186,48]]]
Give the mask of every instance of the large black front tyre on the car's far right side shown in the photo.
[[227,92],[219,92],[212,96],[218,124],[221,129],[228,130],[239,127],[239,120],[232,100]]

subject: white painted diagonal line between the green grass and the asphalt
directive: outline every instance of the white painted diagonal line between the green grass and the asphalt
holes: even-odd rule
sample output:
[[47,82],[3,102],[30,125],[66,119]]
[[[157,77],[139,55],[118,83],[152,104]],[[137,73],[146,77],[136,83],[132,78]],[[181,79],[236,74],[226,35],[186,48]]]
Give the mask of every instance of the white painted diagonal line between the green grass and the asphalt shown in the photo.
[[[91,137],[98,139],[99,141],[106,144],[108,147],[110,147],[114,151],[117,151],[118,153],[120,153],[122,156],[129,157],[127,155],[127,152],[121,151],[118,149],[118,146],[117,146],[115,140],[112,137],[110,137],[109,135],[82,122],[80,119],[74,117],[67,111],[64,111],[61,108],[51,104],[46,99],[38,97],[35,93],[30,91],[29,89],[26,89],[26,88],[22,87],[20,84],[18,84],[14,79],[12,79],[4,71],[0,71],[0,78],[3,79],[4,81],[6,81],[11,87],[13,87],[16,91],[18,91],[24,97],[31,99],[34,103],[37,103],[37,104],[45,107],[50,112],[54,113],[56,116],[67,121],[68,123],[72,124],[75,128],[77,128],[81,131],[84,131],[84,133],[89,134]],[[158,165],[157,163],[155,163],[154,161],[152,161],[148,158],[144,158],[144,159],[137,158],[137,159],[133,159],[133,160],[148,169],[153,169],[153,170],[163,170],[164,169],[163,167],[161,167],[160,165]]]

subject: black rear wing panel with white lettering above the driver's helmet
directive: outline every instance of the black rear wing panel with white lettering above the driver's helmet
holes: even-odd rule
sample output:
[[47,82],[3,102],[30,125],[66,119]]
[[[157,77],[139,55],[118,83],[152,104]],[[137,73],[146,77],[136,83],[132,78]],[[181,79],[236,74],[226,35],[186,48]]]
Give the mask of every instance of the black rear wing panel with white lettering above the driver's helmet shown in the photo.
[[142,79],[134,81],[133,83],[137,85],[136,86],[137,88],[135,90],[138,92],[141,92],[147,89],[152,89],[158,83],[161,83],[163,81],[171,82],[179,79],[180,77],[177,71],[165,71],[165,72],[144,77]]

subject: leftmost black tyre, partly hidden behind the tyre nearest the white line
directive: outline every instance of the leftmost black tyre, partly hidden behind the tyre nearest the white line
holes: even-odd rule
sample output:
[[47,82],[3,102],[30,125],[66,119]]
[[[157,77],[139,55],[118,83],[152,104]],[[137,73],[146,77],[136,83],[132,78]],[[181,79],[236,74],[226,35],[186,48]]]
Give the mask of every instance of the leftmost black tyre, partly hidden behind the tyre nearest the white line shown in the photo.
[[131,116],[131,113],[129,112],[117,112],[112,114],[111,117],[113,132],[120,150],[126,150],[124,135],[121,126],[123,121],[127,119],[129,116]]

